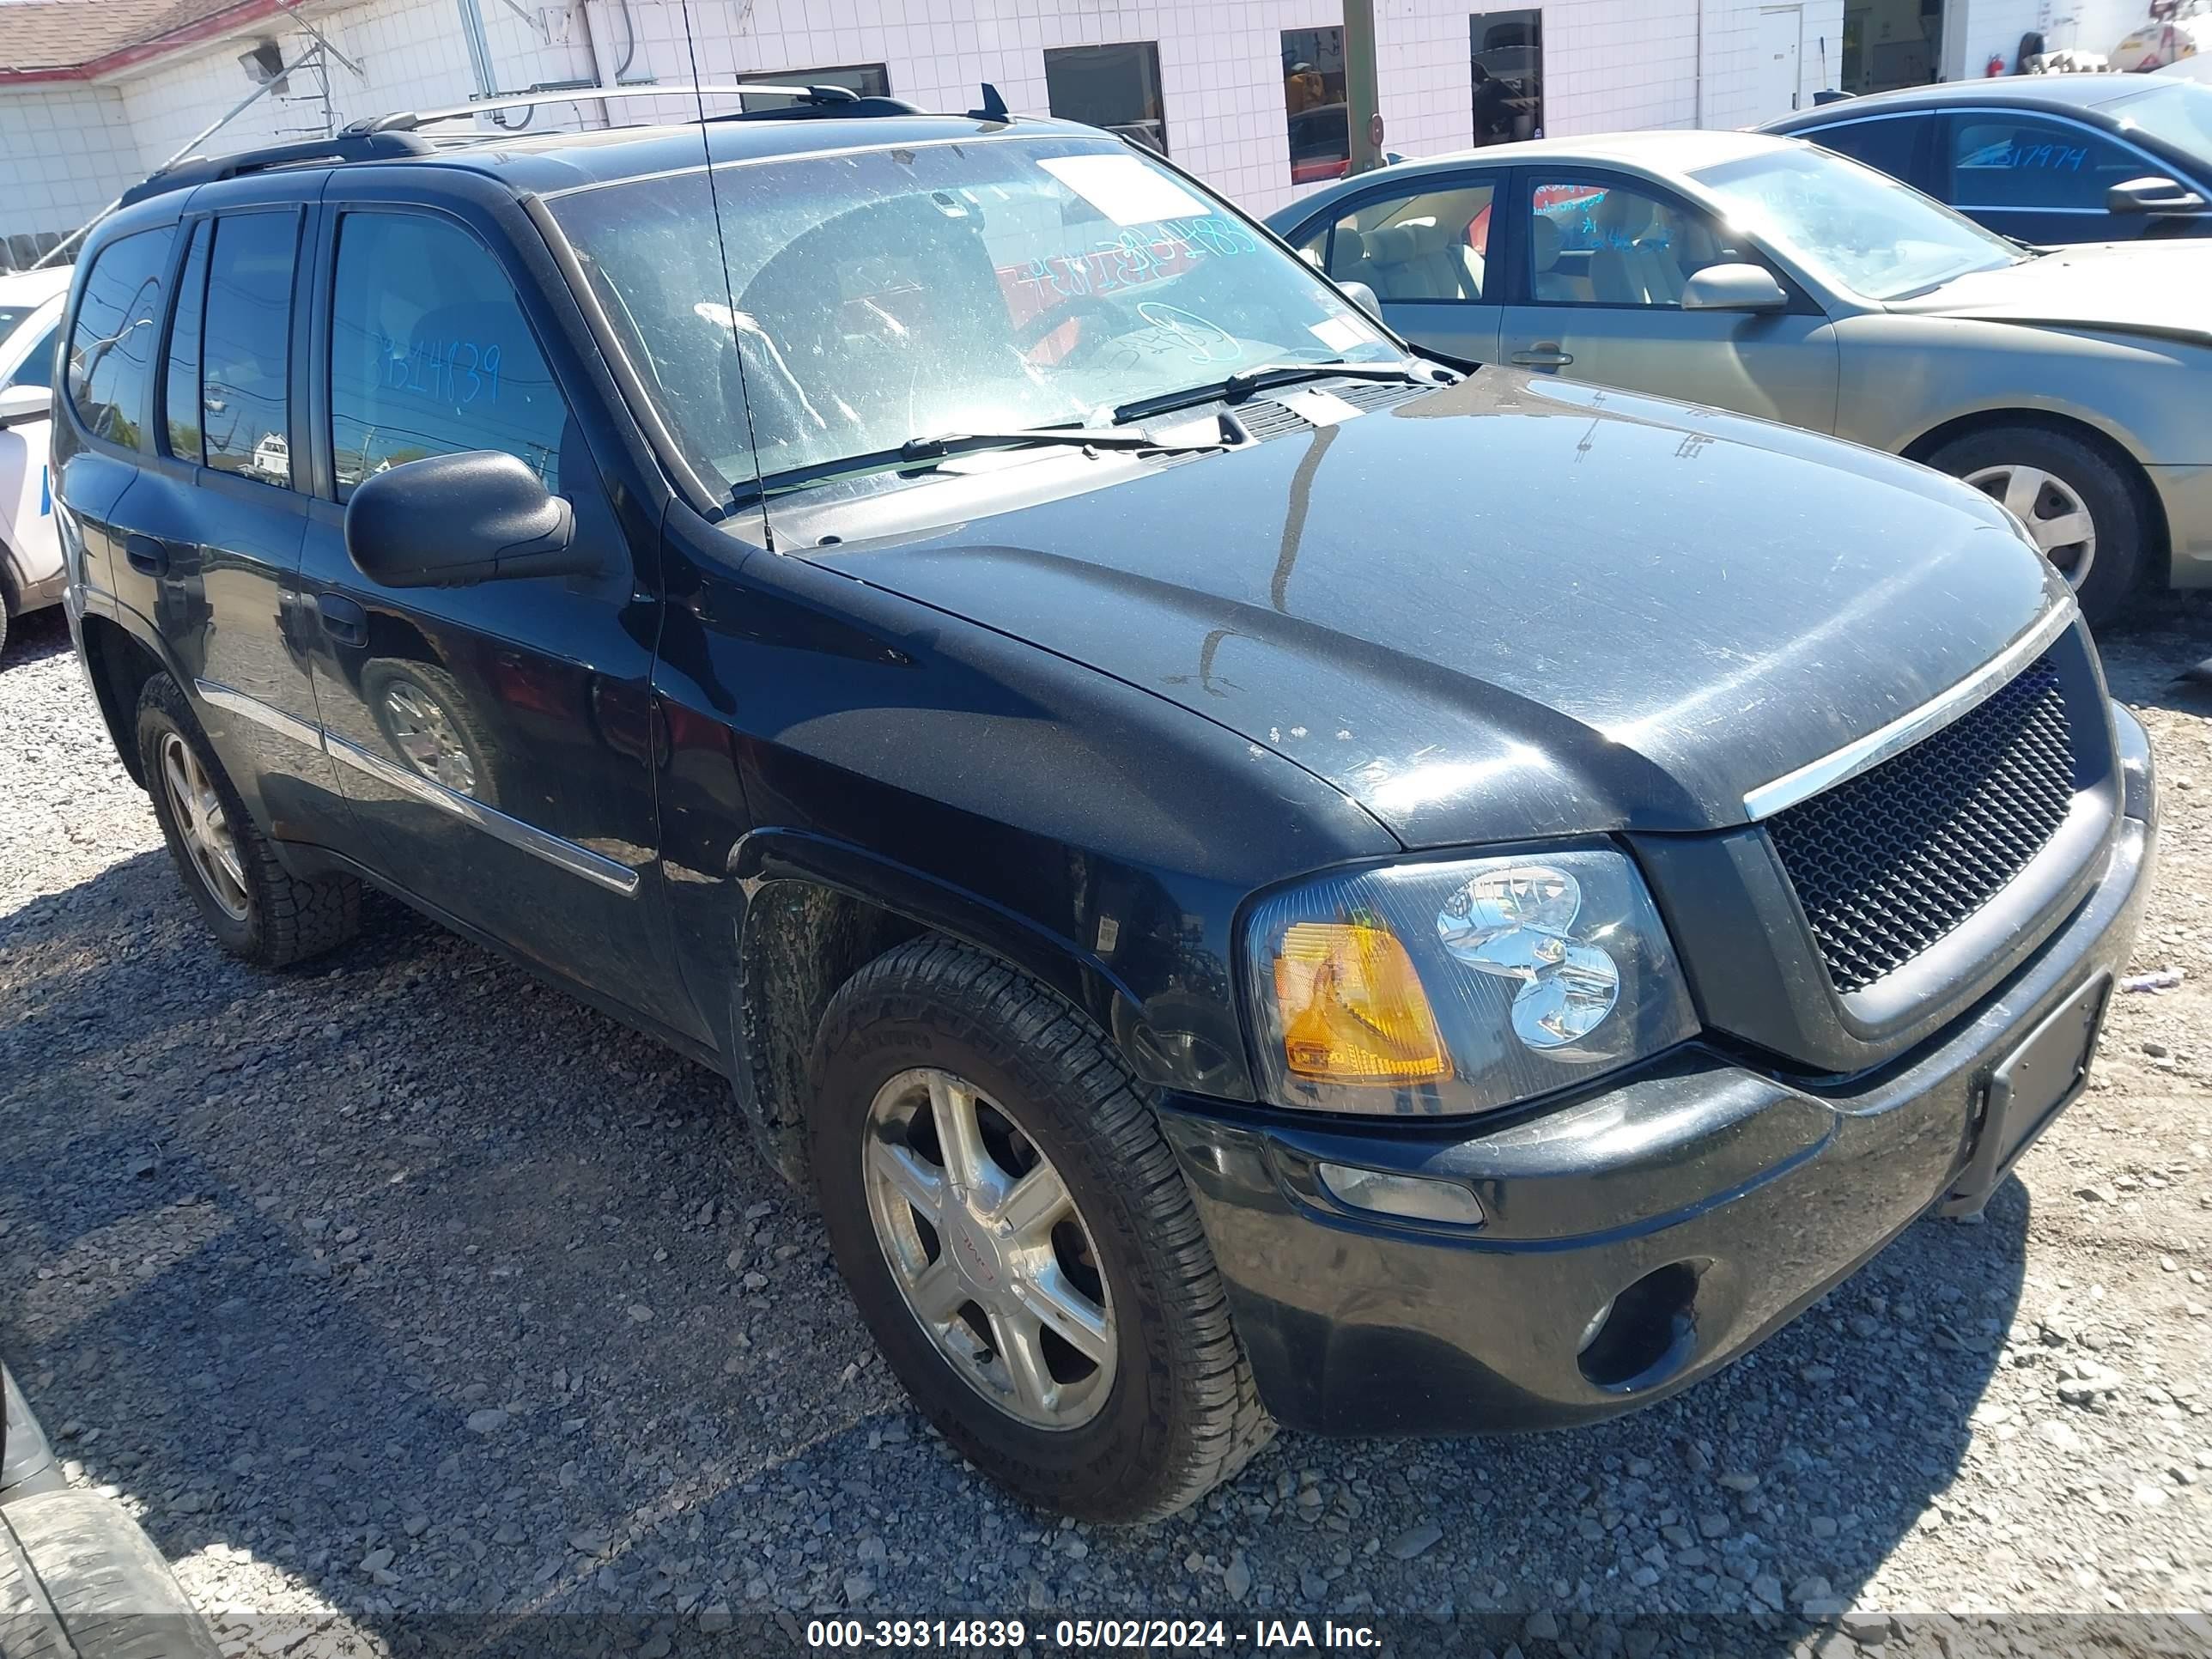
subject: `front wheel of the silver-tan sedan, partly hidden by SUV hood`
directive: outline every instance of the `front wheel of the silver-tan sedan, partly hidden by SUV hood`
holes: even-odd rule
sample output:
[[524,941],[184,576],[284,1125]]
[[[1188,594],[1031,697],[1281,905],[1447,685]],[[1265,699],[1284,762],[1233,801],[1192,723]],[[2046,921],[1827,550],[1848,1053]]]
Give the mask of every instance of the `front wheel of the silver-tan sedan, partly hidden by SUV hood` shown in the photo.
[[1984,427],[1929,465],[2004,502],[2090,622],[2108,622],[2143,573],[2143,507],[2121,467],[2064,431]]

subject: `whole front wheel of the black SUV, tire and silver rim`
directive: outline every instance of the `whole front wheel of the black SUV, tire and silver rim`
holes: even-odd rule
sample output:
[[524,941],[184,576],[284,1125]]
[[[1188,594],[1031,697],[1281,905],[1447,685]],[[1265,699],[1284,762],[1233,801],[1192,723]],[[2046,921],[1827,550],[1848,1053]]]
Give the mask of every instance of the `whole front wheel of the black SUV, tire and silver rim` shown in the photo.
[[991,958],[914,940],[814,1048],[830,1245],[907,1394],[1020,1498],[1172,1515],[1274,1433],[1175,1155],[1106,1037]]

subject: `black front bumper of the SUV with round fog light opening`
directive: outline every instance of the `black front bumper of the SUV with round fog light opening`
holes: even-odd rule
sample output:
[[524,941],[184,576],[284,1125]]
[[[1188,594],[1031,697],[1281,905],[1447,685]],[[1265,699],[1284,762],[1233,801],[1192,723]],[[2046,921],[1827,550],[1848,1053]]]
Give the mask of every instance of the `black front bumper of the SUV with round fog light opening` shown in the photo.
[[[1161,1121],[1267,1409],[1316,1433],[1606,1418],[1736,1358],[1938,1201],[1978,1208],[2051,1121],[1978,1157],[1991,1073],[2068,1009],[2095,1024],[2148,896],[2150,752],[2117,719],[2126,816],[2099,883],[1978,1009],[1878,1073],[1803,1086],[1692,1042],[1475,1135],[1170,1099]],[[1460,1181],[1484,1223],[1349,1210],[1314,1177],[1323,1161]],[[1628,1334],[1577,1352],[1608,1301],[1608,1332]]]

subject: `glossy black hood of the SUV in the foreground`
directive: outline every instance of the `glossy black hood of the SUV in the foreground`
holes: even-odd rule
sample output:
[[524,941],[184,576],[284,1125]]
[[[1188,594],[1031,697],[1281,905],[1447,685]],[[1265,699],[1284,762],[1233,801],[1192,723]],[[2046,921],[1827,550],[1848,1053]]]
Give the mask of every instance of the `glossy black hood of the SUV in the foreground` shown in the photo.
[[2064,602],[1924,467],[1502,369],[1093,465],[1141,471],[801,557],[1228,726],[1407,847],[1743,823]]

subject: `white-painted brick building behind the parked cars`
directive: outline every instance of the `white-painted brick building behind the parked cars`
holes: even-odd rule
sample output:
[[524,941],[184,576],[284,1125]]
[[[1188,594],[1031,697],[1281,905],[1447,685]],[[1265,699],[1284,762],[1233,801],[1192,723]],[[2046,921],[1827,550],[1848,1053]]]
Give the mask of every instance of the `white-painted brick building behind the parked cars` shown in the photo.
[[[1385,148],[1745,126],[1820,88],[2108,51],[2143,0],[1374,0]],[[834,80],[1115,126],[1254,212],[1343,166],[1340,0],[0,0],[0,268],[197,148],[557,84]],[[644,100],[659,104],[659,100]],[[670,102],[668,117],[686,106]],[[595,126],[553,104],[540,126]],[[617,119],[635,119],[624,115]]]

